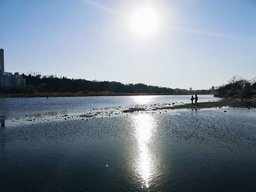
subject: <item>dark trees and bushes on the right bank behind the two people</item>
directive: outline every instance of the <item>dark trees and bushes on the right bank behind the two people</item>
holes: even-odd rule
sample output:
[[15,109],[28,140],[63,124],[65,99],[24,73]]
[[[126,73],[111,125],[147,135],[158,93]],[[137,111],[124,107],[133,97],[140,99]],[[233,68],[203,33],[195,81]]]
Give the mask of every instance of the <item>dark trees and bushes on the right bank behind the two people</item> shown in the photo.
[[217,92],[216,96],[218,97],[248,98],[256,94],[256,77],[247,80],[235,75],[228,84],[220,86]]

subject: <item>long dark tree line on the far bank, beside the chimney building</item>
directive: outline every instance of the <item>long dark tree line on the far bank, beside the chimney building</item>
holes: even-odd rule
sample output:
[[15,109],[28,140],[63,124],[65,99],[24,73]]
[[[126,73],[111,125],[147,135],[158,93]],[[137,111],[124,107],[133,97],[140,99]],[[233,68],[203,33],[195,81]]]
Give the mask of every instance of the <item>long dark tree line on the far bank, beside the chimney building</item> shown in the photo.
[[67,79],[67,77],[58,78],[56,76],[26,76],[26,89],[40,92],[71,92],[79,91],[99,92],[110,91],[115,93],[175,93],[174,89],[167,87],[157,87],[146,84],[122,84],[116,81],[88,81],[85,79]]

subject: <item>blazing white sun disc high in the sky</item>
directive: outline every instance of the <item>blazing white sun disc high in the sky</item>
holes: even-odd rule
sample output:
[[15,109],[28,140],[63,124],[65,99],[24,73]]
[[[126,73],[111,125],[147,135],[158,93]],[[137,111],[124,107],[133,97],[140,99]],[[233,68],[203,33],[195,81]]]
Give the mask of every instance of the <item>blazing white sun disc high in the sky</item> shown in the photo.
[[153,9],[137,9],[131,16],[131,26],[139,35],[149,35],[157,27],[157,15]]

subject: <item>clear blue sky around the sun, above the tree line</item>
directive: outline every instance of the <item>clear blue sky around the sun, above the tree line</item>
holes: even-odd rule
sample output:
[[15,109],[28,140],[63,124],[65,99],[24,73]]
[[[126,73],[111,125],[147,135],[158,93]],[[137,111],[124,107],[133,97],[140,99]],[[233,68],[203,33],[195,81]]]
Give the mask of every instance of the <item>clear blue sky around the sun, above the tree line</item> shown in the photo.
[[256,76],[256,1],[0,0],[0,48],[6,72],[209,89]]

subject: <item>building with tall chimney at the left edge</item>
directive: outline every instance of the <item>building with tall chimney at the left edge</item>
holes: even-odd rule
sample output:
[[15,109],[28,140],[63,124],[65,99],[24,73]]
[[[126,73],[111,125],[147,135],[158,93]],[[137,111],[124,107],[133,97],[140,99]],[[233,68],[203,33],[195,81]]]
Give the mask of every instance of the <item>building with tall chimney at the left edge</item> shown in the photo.
[[0,87],[25,87],[26,79],[19,75],[19,73],[12,73],[4,71],[3,49],[0,49]]

